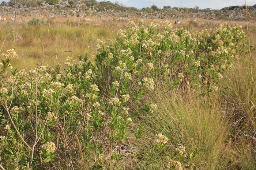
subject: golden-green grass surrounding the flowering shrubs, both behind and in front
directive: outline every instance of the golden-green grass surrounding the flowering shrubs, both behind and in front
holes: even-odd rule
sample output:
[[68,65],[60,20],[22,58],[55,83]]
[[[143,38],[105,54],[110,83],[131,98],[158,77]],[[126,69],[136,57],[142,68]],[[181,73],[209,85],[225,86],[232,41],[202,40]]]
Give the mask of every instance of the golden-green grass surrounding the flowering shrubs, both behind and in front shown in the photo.
[[[118,35],[116,34],[117,31],[119,29],[126,29],[129,25],[128,21],[131,20],[127,19],[126,21],[110,21],[109,18],[90,18],[90,20],[84,19],[81,23],[80,28],[78,29],[77,18],[41,18],[41,20],[45,20],[45,24],[41,25],[28,24],[27,22],[30,19],[31,18],[24,18],[23,21],[20,21],[15,25],[0,22],[0,44],[3,44],[1,53],[9,50],[10,48],[15,48],[15,51],[19,55],[19,58],[12,62],[12,66],[18,68],[18,70],[25,69],[26,71],[29,71],[31,68],[35,68],[41,65],[46,60],[47,62],[45,62],[43,66],[46,66],[46,64],[49,64],[53,68],[56,67],[58,64],[64,66],[64,63],[66,63],[67,65],[67,60],[65,60],[67,56],[70,56],[74,60],[78,60],[77,56],[83,56],[85,52],[88,52],[88,58],[92,61],[95,60],[95,62],[98,62],[99,65],[97,65],[97,69],[102,71],[103,66],[101,66],[102,68],[100,68],[100,64],[105,64],[107,62],[101,63],[99,58],[100,55],[98,55],[98,58],[95,59],[95,55],[97,55],[97,53],[95,53],[95,49],[98,49],[99,46],[97,44],[97,39],[101,39],[104,42],[106,42],[107,39],[119,39],[120,37],[118,37]],[[135,23],[138,23],[139,19],[133,19],[133,21]],[[150,24],[151,21],[152,20],[150,19],[146,19],[145,25]],[[153,22],[161,25],[164,21],[165,20],[155,20]],[[169,22],[174,23],[174,20],[169,20]],[[181,24],[172,26],[174,29],[184,28],[188,29],[191,33],[196,33],[196,31],[200,32],[204,29],[211,30],[217,28],[220,24],[223,23],[225,23],[225,21],[221,20],[197,20],[197,23],[195,23],[188,19],[184,19],[181,20]],[[245,21],[227,22],[227,26],[230,27],[234,27],[236,26],[236,24],[242,25],[242,29],[244,30],[245,35],[247,35],[247,25]],[[159,28],[159,32],[161,31],[163,31],[163,28]],[[9,32],[11,33],[7,36]],[[17,34],[20,35],[20,40],[16,40]],[[249,23],[248,35],[250,36],[246,39],[250,40],[250,45],[255,45],[255,23]],[[245,46],[245,50],[248,50],[248,45]],[[103,55],[104,53],[102,52],[101,54]],[[239,54],[239,51],[237,51],[236,54]],[[143,60],[143,62],[145,61],[146,60]],[[203,62],[201,62],[201,64],[202,63]],[[128,63],[126,64],[128,67]],[[155,64],[157,65],[157,63]],[[207,81],[210,82],[210,78],[208,79],[208,77],[210,77],[210,73],[208,72],[204,75],[205,79],[201,82],[202,84],[198,83],[200,84],[198,86],[194,86],[194,84],[192,83],[193,81],[191,79],[193,79],[193,75],[189,72],[188,75],[184,75],[185,79],[182,80],[183,82],[180,82],[177,86],[172,88],[172,90],[170,90],[169,86],[166,86],[165,83],[162,83],[165,81],[165,79],[162,78],[163,75],[161,74],[161,78],[159,76],[159,78],[155,79],[155,88],[153,92],[145,92],[145,95],[142,96],[139,102],[132,101],[131,103],[129,103],[129,108],[137,114],[135,114],[135,116],[133,117],[132,125],[128,127],[128,130],[136,131],[137,125],[142,124],[142,137],[136,138],[136,134],[128,132],[128,138],[121,140],[120,145],[117,142],[116,145],[112,146],[112,142],[110,142],[110,144],[107,142],[108,137],[105,134],[110,133],[111,127],[108,127],[106,124],[111,124],[111,120],[114,119],[114,116],[111,114],[107,115],[107,112],[109,112],[109,110],[111,109],[113,109],[111,111],[114,112],[115,108],[112,108],[108,104],[105,104],[104,107],[106,108],[104,108],[104,111],[106,112],[106,116],[104,117],[104,119],[102,118],[103,120],[105,120],[106,123],[103,125],[105,129],[99,132],[92,132],[92,136],[95,135],[95,138],[97,138],[98,141],[102,139],[102,152],[105,153],[107,162],[110,160],[108,167],[110,169],[167,169],[163,165],[163,163],[161,163],[166,161],[167,159],[164,156],[172,155],[173,148],[175,147],[185,146],[187,154],[190,152],[193,153],[193,150],[195,150],[195,148],[202,149],[202,151],[200,151],[197,154],[197,157],[195,157],[195,159],[192,161],[193,169],[256,169],[255,64],[255,51],[251,51],[251,53],[242,52],[241,55],[237,56],[236,60],[234,60],[234,62],[230,64],[230,67],[222,72],[222,79],[218,79],[216,80],[216,82],[214,82],[213,80],[211,81],[211,83],[214,82],[214,85],[218,86],[218,91],[209,91],[209,88],[211,88],[212,84],[207,84]],[[207,65],[204,66],[204,68],[208,67]],[[87,65],[87,67],[89,67],[89,65]],[[169,75],[171,79],[170,82],[172,82],[172,80],[175,79],[175,74],[178,74],[178,71],[182,70],[183,67],[181,62],[178,62],[175,65],[170,65],[170,67],[173,68],[173,70],[171,71],[172,74]],[[91,66],[92,70],[93,68],[96,69],[95,67]],[[140,76],[143,77],[144,75],[146,77],[148,75],[147,72],[143,72],[140,70],[138,70],[139,73],[137,73],[138,71],[136,72],[135,68],[133,68],[133,70],[130,70],[131,74],[134,75],[133,78],[136,76],[136,78],[139,79]],[[202,66],[201,70],[197,70],[197,72],[204,70],[204,68]],[[76,68],[76,70],[77,69],[78,68]],[[218,68],[218,70],[220,70],[220,68]],[[65,74],[66,77],[62,78],[66,79],[67,74],[73,72],[75,73],[75,68],[72,67],[68,67],[65,70],[63,69],[62,74]],[[100,101],[99,103],[101,103],[102,100],[109,101],[108,98],[113,93],[111,91],[112,87],[110,85],[106,85],[108,84],[108,79],[105,79],[106,77],[109,77],[109,79],[111,78],[111,81],[114,81],[115,77],[112,78],[112,75],[110,75],[110,73],[112,72],[104,72],[103,70],[100,73],[103,78],[101,79],[101,81],[99,81],[97,77],[98,75],[95,72],[97,77],[95,78],[97,79],[95,80],[95,82],[99,81],[100,83],[102,83],[101,87],[98,85],[100,89],[100,94],[98,94]],[[56,74],[51,73],[54,79]],[[83,72],[83,74],[85,73]],[[151,74],[153,75],[153,73]],[[104,77],[105,75],[108,76]],[[137,83],[137,80],[133,78],[132,82],[128,84],[134,85]],[[68,79],[65,81],[63,80],[65,86],[68,86],[69,83],[73,83],[73,88],[76,89],[77,84],[75,85],[75,80]],[[33,80],[31,80],[31,82],[33,82]],[[48,85],[45,87],[50,86],[49,84],[50,82],[48,82]],[[82,88],[82,85],[80,84],[77,86],[79,88]],[[80,96],[82,99],[84,98],[84,96],[82,95],[83,93],[79,88],[74,90],[77,92],[73,92],[73,95]],[[136,88],[138,87],[132,86],[127,91],[132,93],[137,90]],[[64,96],[60,100],[60,102],[63,102],[66,99],[68,101],[69,97],[70,95]],[[31,98],[35,98],[35,96]],[[15,104],[19,106],[19,104],[17,103]],[[149,108],[145,107],[145,104],[148,105],[148,103],[157,104],[157,108],[154,112],[148,112]],[[61,118],[60,115],[67,114],[66,118],[69,118],[69,113],[62,112],[62,109],[65,108],[65,105],[61,107],[53,107],[56,107],[56,110],[60,110],[59,119],[64,119],[64,121],[67,121],[65,120],[66,115],[63,116],[63,118]],[[90,105],[90,107],[92,106]],[[79,109],[76,110],[74,106],[72,106],[72,108],[74,108],[74,114],[75,112],[79,111]],[[4,108],[1,109],[4,110]],[[65,109],[68,110],[68,108]],[[5,114],[5,116],[7,115],[4,111],[3,114]],[[119,121],[119,118],[116,119],[118,119]],[[97,163],[97,160],[99,160],[99,155],[101,154],[97,156],[94,155],[95,157],[97,157],[97,159],[93,156],[90,157],[90,154],[93,154],[89,152],[89,149],[90,147],[96,145],[95,143],[97,142],[94,141],[94,145],[91,144],[90,147],[87,145],[88,142],[86,141],[86,137],[84,137],[82,134],[84,133],[84,129],[89,127],[89,125],[86,123],[86,125],[84,125],[82,119],[81,122],[79,122],[78,120],[80,120],[78,119],[78,117],[71,116],[66,126],[70,124],[72,125],[72,127],[68,127],[68,129],[66,129],[65,131],[61,129],[64,128],[61,124],[54,124],[53,122],[49,123],[50,125],[48,132],[57,131],[58,133],[63,133],[63,136],[61,136],[62,134],[53,134],[54,137],[52,137],[54,139],[57,139],[57,154],[60,155],[60,158],[54,158],[54,160],[51,157],[52,155],[44,155],[43,153],[40,153],[38,149],[36,151],[38,155],[37,157],[35,157],[35,160],[38,160],[39,163],[38,165],[37,163],[33,164],[32,167],[34,169],[92,169],[91,165],[93,165],[93,163],[95,162]],[[76,127],[78,126],[78,124],[74,123],[76,121],[78,124],[83,124],[83,127]],[[96,126],[94,125],[93,127]],[[0,131],[0,135],[6,135],[6,132],[3,130],[4,127],[1,128],[2,130]],[[150,149],[152,149],[152,138],[154,138],[155,134],[159,133],[165,134],[165,136],[169,139],[170,143],[168,144],[168,146],[166,145],[166,155],[162,155],[162,153],[157,153],[157,151],[154,151],[155,158],[152,158],[148,156],[150,155]],[[75,135],[79,136],[83,152],[82,155],[85,157],[84,160],[86,161],[84,161],[83,158],[80,158],[79,146],[78,143],[75,141]],[[99,135],[99,137],[97,137],[96,135]],[[45,134],[42,143],[43,141],[48,141],[48,139],[50,138],[51,137],[49,137],[49,135],[47,137],[47,134]],[[69,143],[69,145],[67,143]],[[121,145],[121,143],[123,143],[124,145]],[[116,163],[119,159],[111,155],[108,150],[109,148],[111,148],[112,150],[110,150],[110,152],[116,151],[116,153],[118,153],[118,147],[120,147],[119,154],[121,153],[124,156],[122,159],[120,159],[119,163]],[[4,147],[2,147],[2,149],[3,148]],[[70,154],[69,150],[73,151],[74,154]],[[17,149],[16,152],[19,152],[19,150]],[[6,160],[3,160],[3,158],[7,158],[5,157],[6,155],[4,155],[6,153],[0,153],[0,156],[2,158],[2,160],[0,159],[0,163],[5,162],[6,165],[3,163],[5,169],[11,169],[14,167],[12,166],[13,164],[11,164],[11,161],[8,162]],[[75,158],[71,158],[70,155],[73,155]],[[113,160],[111,161],[110,155],[111,158],[113,156],[113,159],[115,159],[116,162],[113,162]],[[47,159],[45,159],[46,161],[42,161],[41,156],[49,156],[49,161],[47,162]],[[63,161],[63,159],[61,158],[66,159],[65,161]],[[10,160],[11,159],[14,158],[10,158]],[[74,163],[74,165],[72,164],[72,162]],[[186,164],[188,162],[184,161],[184,163]],[[20,169],[26,169],[27,167],[25,167],[24,165],[25,163],[18,163]],[[100,169],[99,167],[102,168],[101,166],[95,166],[94,169]],[[173,167],[173,169],[175,168],[176,167]]]

